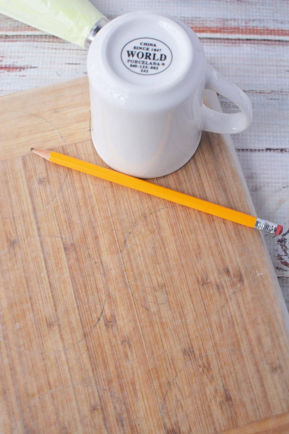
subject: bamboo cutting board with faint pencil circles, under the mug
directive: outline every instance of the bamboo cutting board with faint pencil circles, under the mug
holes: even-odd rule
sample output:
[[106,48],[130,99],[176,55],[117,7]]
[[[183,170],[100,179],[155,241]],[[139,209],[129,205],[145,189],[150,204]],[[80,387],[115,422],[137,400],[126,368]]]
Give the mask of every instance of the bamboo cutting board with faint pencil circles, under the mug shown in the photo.
[[[288,433],[261,234],[32,155],[104,165],[86,79],[0,102],[1,433]],[[153,182],[253,212],[221,135]]]

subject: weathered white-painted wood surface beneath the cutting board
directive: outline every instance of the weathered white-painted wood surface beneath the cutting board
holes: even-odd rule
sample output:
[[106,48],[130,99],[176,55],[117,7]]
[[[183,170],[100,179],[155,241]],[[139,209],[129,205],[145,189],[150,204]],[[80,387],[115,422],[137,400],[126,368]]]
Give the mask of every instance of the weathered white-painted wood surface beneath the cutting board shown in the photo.
[[[93,0],[108,18],[133,10],[177,16],[201,38],[208,61],[253,105],[233,136],[258,216],[283,224],[266,243],[289,303],[289,2],[283,0]],[[0,95],[86,75],[87,52],[0,15]],[[221,99],[224,111],[234,107]]]

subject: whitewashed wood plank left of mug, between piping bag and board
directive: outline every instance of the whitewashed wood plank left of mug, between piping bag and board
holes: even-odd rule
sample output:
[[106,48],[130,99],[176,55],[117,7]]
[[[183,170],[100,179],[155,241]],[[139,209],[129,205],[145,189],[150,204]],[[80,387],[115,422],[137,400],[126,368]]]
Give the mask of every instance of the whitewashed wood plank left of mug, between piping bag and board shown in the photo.
[[86,75],[86,58],[54,36],[0,37],[0,95]]

